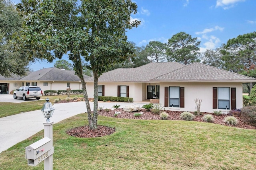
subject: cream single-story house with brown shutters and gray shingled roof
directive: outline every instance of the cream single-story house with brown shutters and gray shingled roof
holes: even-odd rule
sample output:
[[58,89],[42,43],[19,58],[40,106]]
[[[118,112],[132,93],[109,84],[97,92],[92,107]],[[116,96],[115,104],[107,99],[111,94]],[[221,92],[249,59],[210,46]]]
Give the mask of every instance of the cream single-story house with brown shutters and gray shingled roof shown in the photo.
[[[93,98],[93,77],[85,81],[88,97]],[[229,111],[243,106],[242,83],[246,82],[256,79],[202,63],[149,63],[103,73],[98,95],[130,97],[134,102],[159,98],[163,109],[173,111],[196,111],[198,98],[200,111]]]

